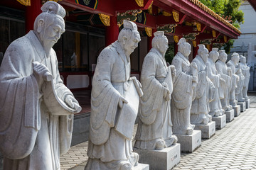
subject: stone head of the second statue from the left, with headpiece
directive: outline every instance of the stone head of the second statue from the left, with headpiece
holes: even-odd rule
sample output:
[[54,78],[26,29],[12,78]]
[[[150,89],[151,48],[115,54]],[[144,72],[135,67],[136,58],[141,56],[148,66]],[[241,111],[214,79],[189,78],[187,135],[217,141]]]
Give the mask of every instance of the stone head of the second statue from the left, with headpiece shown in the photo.
[[124,20],[124,28],[118,35],[118,42],[127,55],[134,52],[135,48],[138,47],[138,43],[141,40],[137,26],[132,21]]

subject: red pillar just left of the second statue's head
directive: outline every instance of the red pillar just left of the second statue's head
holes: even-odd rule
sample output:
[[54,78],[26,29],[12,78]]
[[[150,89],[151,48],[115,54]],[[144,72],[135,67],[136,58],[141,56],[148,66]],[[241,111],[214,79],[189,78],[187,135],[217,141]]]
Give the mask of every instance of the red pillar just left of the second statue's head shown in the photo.
[[105,46],[112,44],[116,41],[119,34],[119,27],[117,26],[117,16],[110,16],[110,26],[106,27],[105,33]]

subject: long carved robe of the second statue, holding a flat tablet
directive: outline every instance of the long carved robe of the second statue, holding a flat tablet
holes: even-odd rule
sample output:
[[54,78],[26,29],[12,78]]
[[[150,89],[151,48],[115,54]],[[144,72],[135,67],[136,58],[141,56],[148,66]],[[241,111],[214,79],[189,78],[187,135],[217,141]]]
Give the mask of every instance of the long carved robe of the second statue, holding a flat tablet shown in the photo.
[[[118,106],[119,97],[129,90],[129,77],[129,56],[118,41],[113,42],[100,53],[92,79],[89,160],[85,169],[117,169],[112,161],[132,161],[132,139],[115,129],[122,109],[129,104],[124,103],[123,108]],[[139,101],[137,104],[139,106]],[[132,126],[127,132],[133,132],[134,121],[122,122]],[[137,162],[138,158],[131,164]]]

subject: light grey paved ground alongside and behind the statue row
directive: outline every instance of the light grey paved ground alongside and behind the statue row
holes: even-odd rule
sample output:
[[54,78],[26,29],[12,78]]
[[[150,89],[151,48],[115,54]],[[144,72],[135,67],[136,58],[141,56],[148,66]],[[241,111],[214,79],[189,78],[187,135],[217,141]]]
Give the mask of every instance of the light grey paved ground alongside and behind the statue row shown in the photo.
[[[256,96],[244,113],[191,154],[181,154],[176,169],[256,169]],[[134,128],[136,130],[137,127]],[[87,161],[87,142],[71,147],[60,158],[61,169],[82,170]]]

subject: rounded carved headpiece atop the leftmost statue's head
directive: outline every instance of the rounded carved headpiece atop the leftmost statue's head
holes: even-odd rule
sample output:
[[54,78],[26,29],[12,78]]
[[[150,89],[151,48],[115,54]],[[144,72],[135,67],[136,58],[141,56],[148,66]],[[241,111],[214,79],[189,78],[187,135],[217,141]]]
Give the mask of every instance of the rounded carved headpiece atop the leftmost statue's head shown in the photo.
[[47,1],[45,4],[43,4],[41,10],[46,13],[55,13],[62,18],[64,18],[66,14],[65,9],[55,1]]

